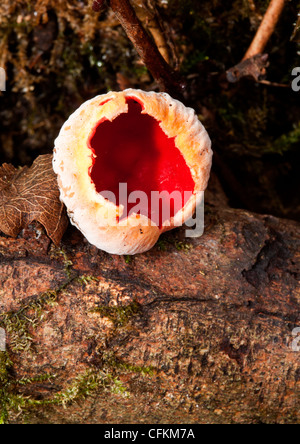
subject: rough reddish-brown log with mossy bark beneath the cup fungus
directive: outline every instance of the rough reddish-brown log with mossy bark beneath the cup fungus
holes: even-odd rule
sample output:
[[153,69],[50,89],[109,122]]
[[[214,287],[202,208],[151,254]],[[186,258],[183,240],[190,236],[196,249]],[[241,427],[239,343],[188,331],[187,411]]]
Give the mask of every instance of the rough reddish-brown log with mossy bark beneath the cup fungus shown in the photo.
[[0,237],[2,396],[27,400],[10,422],[299,422],[299,224],[230,209],[213,181],[206,202],[202,237],[134,258],[75,228],[61,249]]

